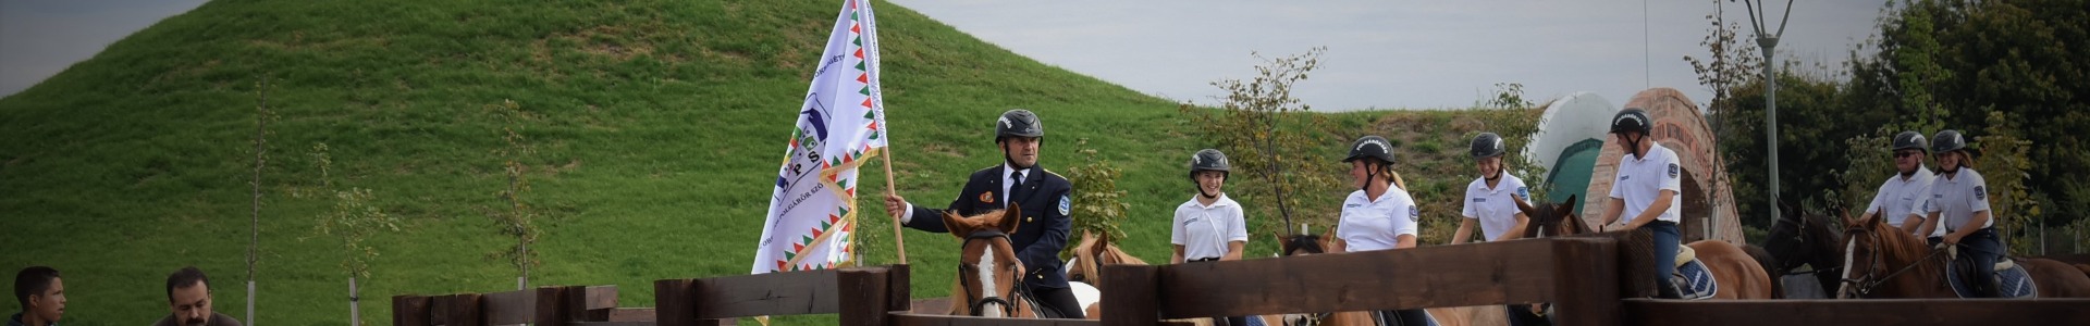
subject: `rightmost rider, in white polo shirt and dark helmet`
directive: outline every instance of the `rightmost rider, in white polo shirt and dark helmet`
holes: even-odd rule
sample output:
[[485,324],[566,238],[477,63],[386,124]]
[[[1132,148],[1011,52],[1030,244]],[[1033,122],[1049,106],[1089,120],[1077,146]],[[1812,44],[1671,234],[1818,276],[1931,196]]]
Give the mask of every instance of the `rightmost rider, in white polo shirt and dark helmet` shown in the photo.
[[[1988,267],[1996,265],[1996,259],[2004,255],[2002,240],[1996,238],[1996,219],[1988,209],[1988,180],[1979,171],[1973,171],[1969,163],[1973,157],[1967,153],[1967,136],[1958,130],[1937,132],[1931,138],[1931,153],[1937,153],[1937,180],[1931,180],[1931,203],[1927,207],[1929,219],[1925,230],[1946,230],[1942,247],[1958,245],[1965,259],[1973,259],[1973,265]],[[1994,295],[1994,274],[1971,276],[1971,286],[1975,297],[1996,297]]]

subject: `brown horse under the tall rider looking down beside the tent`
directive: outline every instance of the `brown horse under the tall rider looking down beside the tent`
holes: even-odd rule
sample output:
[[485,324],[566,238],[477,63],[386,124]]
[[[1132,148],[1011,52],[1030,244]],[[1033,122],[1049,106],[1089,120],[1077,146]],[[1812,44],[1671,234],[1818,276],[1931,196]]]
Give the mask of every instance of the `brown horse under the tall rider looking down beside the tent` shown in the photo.
[[[1576,196],[1568,196],[1563,203],[1540,203],[1524,211],[1532,224],[1524,228],[1526,236],[1545,238],[1590,232],[1582,224],[1582,217],[1574,215],[1574,203]],[[1639,242],[1626,247],[1651,245]],[[1726,240],[1697,240],[1685,247],[1697,253],[1699,263],[1705,263],[1705,270],[1718,282],[1720,293],[1714,293],[1714,299],[1779,299],[1785,293],[1779,282],[1770,282],[1770,270],[1776,270],[1776,265],[1762,249],[1745,249]],[[1655,257],[1655,263],[1672,263],[1672,259]]]

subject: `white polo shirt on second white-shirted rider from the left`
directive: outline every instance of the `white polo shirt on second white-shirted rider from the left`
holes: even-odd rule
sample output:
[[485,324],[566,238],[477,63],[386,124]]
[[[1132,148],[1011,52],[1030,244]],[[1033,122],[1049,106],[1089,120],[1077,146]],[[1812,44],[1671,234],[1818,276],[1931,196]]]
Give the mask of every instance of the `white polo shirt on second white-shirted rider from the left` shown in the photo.
[[1419,219],[1421,211],[1407,190],[1388,186],[1379,199],[1367,199],[1365,190],[1356,190],[1342,201],[1336,238],[1348,242],[1346,251],[1386,251],[1400,242],[1400,234],[1415,236]]

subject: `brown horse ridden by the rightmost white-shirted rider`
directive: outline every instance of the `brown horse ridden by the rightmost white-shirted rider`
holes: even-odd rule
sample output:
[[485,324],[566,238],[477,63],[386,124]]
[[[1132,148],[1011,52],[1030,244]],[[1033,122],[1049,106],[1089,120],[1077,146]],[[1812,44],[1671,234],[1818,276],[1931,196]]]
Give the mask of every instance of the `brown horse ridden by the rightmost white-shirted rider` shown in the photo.
[[[1946,284],[1946,251],[1923,238],[1864,219],[1843,230],[1843,282],[1837,297],[1954,299]],[[2090,297],[2090,270],[2054,259],[2013,257],[2031,274],[2038,297]]]

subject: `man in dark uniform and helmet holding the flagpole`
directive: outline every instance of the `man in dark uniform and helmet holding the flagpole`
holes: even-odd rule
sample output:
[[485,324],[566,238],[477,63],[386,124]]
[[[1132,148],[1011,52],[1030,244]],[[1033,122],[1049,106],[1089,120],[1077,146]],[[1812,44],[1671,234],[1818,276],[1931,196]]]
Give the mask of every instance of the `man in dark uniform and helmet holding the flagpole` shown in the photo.
[[1026,109],[1001,113],[1001,119],[995,119],[995,146],[1001,148],[1001,165],[974,171],[966,188],[945,209],[926,209],[899,194],[886,194],[886,213],[899,215],[907,228],[949,232],[940,219],[947,211],[978,215],[1005,209],[1009,203],[1020,205],[1024,222],[1016,234],[1009,234],[1009,245],[1016,247],[1016,257],[1024,263],[1024,286],[1041,305],[1062,318],[1081,320],[1081,303],[1068,290],[1066,274],[1060,267],[1060,249],[1066,247],[1066,236],[1074,228],[1074,219],[1068,217],[1072,209],[1068,194],[1074,186],[1037,165],[1043,138],[1045,125],[1039,123],[1037,113]]

